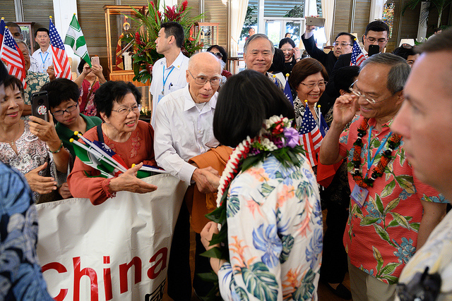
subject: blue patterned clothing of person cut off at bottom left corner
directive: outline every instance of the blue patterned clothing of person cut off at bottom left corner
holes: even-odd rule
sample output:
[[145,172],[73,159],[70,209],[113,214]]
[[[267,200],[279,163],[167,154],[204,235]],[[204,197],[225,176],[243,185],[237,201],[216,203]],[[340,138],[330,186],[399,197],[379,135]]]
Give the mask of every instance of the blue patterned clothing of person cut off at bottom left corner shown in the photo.
[[0,163],[0,300],[53,300],[37,259],[37,211],[25,178]]

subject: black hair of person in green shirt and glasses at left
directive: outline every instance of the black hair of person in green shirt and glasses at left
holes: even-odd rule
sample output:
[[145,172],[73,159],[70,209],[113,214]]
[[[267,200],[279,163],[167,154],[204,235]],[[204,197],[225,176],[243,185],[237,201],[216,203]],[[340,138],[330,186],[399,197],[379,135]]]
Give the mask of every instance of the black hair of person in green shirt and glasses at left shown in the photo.
[[41,87],[41,91],[47,91],[50,108],[59,106],[61,102],[66,102],[71,99],[74,102],[78,102],[78,97],[80,97],[78,85],[66,78],[57,78],[56,80],[47,82]]

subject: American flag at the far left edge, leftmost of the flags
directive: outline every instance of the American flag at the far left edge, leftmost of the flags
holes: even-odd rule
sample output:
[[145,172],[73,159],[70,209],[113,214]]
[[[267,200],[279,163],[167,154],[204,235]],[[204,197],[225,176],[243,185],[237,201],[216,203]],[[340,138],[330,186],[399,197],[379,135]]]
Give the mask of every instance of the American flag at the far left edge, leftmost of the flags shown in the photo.
[[[1,20],[3,22],[3,20]],[[22,51],[13,39],[13,35],[5,28],[4,39],[1,45],[0,58],[7,65],[8,73],[16,76],[23,85],[23,88],[27,87],[25,82],[25,76],[27,75],[27,70],[25,70],[25,59],[23,58]]]

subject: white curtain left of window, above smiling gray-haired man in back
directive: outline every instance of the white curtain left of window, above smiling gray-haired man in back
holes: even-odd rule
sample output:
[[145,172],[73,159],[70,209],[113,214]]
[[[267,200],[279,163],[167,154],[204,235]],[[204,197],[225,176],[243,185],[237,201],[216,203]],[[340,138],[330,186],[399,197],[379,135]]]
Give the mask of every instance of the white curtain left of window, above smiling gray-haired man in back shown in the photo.
[[239,51],[239,38],[248,8],[248,0],[230,0],[230,39],[227,48],[230,57],[237,56]]

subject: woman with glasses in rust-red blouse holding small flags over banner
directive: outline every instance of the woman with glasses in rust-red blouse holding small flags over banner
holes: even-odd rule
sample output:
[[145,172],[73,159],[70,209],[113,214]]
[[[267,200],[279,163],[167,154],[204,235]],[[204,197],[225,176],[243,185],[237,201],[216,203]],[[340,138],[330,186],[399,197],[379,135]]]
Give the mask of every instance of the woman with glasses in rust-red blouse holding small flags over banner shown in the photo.
[[[103,159],[119,164],[106,172],[99,166],[93,167],[93,160],[99,158],[79,155],[76,150],[77,158],[68,177],[73,197],[89,198],[97,205],[119,191],[146,193],[157,189],[157,186],[136,177],[143,164],[157,166],[154,130],[149,123],[138,120],[140,104],[141,93],[131,82],[109,81],[97,90],[95,105],[105,122],[88,130],[83,141],[90,146],[92,142],[101,142],[94,143],[93,147],[104,148],[114,160],[111,157]],[[138,165],[132,167],[133,164]]]

